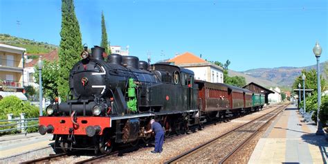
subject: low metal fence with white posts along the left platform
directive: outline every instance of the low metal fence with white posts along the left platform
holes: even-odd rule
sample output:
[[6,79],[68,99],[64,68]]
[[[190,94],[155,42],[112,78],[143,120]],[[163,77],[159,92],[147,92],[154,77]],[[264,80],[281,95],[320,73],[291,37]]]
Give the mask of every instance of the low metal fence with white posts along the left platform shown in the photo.
[[21,113],[21,118],[12,119],[12,114],[8,114],[8,120],[0,120],[0,133],[17,131],[27,133],[29,127],[38,127],[39,118],[24,118]]

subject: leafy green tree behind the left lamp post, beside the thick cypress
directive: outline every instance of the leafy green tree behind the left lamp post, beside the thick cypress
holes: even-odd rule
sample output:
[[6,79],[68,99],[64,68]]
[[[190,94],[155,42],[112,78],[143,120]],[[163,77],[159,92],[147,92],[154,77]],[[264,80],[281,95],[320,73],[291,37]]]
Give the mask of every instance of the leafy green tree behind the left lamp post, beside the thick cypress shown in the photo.
[[[35,66],[34,78],[36,82],[39,82],[39,70]],[[44,97],[50,100],[54,100],[58,96],[58,83],[57,79],[60,75],[60,66],[57,61],[49,62],[44,61],[44,67],[42,68],[42,89]]]

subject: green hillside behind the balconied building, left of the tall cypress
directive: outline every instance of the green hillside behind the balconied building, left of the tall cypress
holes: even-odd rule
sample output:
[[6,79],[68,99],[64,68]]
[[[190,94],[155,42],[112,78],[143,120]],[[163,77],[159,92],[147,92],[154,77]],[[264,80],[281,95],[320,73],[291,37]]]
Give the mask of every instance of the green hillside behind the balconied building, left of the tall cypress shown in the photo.
[[46,42],[36,42],[34,39],[24,39],[21,37],[15,37],[8,34],[0,34],[0,43],[2,44],[9,44],[12,46],[19,46],[26,48],[26,53],[49,53],[53,51],[58,46],[54,44],[48,44]]

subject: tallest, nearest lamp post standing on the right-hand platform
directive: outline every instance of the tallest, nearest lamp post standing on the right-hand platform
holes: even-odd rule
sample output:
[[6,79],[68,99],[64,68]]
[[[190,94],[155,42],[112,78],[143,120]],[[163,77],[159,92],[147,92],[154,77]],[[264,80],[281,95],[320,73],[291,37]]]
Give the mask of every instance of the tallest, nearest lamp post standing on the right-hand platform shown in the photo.
[[320,47],[320,44],[316,42],[316,46],[313,47],[313,53],[316,55],[317,58],[317,88],[318,88],[318,111],[317,111],[317,122],[318,122],[318,129],[316,131],[317,136],[323,136],[325,135],[325,132],[322,130],[322,122],[320,122],[319,118],[319,112],[320,112],[320,105],[321,105],[321,85],[320,85],[320,55],[321,55],[322,49]]

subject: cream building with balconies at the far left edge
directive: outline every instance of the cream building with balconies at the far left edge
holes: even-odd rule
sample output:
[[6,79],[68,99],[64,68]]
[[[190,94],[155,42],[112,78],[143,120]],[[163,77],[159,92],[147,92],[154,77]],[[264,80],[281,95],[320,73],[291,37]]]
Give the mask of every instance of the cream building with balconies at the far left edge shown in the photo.
[[27,100],[24,91],[23,55],[26,48],[0,44],[0,98],[16,95]]

